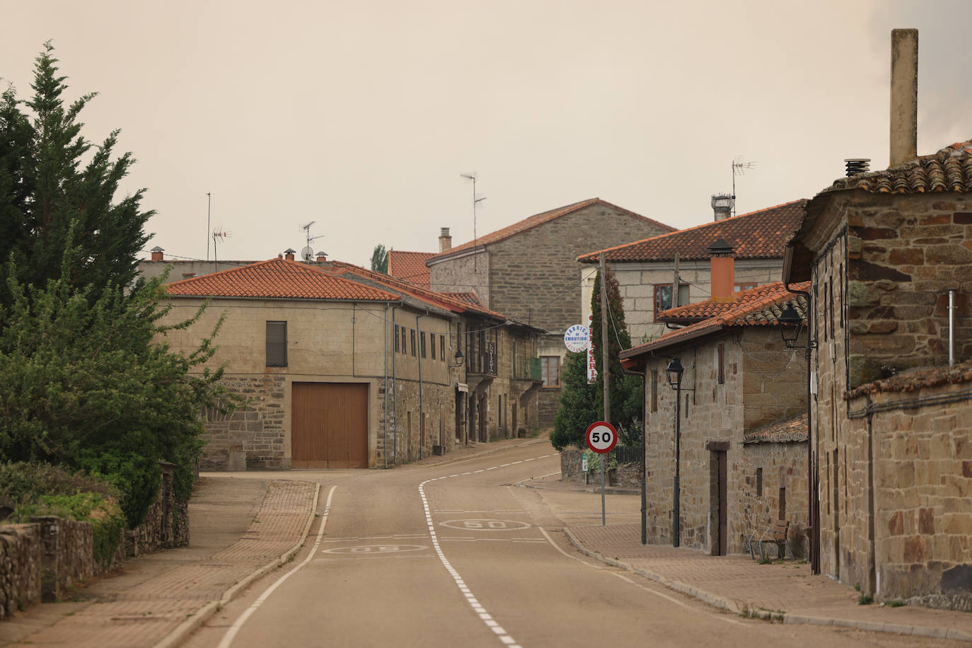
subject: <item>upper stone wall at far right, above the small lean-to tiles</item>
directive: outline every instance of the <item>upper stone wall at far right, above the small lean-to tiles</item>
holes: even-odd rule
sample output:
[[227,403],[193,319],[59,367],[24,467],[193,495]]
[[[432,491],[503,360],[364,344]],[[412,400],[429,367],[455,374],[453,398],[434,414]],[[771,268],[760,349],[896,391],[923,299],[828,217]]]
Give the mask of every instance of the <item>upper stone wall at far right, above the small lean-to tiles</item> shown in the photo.
[[972,358],[972,196],[860,192],[844,200],[851,389],[947,362],[949,289],[957,290],[955,353]]

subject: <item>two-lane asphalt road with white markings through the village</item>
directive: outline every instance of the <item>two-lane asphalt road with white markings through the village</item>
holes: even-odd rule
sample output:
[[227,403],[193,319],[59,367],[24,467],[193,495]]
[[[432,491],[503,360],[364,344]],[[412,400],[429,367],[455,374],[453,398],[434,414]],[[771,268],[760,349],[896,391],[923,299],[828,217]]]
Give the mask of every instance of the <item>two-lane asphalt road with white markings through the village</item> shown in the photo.
[[[936,645],[741,619],[596,563],[562,529],[600,524],[600,495],[515,486],[559,467],[540,443],[434,466],[274,474],[322,485],[303,551],[186,645]],[[608,515],[637,499],[608,497]]]

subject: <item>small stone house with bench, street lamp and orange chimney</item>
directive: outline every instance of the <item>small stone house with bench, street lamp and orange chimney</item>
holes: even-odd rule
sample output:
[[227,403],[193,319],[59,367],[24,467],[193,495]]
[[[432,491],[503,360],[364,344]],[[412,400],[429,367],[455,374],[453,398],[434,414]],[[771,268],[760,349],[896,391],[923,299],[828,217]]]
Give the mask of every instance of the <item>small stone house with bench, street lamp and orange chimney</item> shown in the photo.
[[[694,324],[621,352],[644,375],[648,539],[675,540],[677,472],[679,546],[739,554],[754,530],[786,520],[805,554],[806,361],[777,325],[786,304],[805,302],[780,282],[733,292],[731,279],[715,282],[712,299],[664,313]],[[672,358],[684,368],[681,402],[666,376]]]

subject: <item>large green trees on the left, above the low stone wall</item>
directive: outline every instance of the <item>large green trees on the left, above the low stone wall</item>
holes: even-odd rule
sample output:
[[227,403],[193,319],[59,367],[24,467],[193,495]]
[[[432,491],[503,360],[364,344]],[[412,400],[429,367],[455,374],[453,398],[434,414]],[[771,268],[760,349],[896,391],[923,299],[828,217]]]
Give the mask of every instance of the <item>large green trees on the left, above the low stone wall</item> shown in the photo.
[[[115,193],[134,161],[113,158],[66,105],[52,47],[36,59],[34,94],[0,101],[0,458],[50,461],[104,477],[121,492],[129,525],[154,501],[158,460],[176,464],[188,499],[200,413],[235,398],[222,369],[202,369],[219,325],[188,356],[172,353],[163,278],[136,282],[153,212],[142,191]],[[27,112],[22,112],[25,107]]]

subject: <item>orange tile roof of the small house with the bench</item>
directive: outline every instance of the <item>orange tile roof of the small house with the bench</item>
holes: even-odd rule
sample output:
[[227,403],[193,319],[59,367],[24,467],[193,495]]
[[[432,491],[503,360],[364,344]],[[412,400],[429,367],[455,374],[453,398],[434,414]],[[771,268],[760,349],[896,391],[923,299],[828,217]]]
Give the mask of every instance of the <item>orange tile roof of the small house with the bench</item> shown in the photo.
[[[809,290],[810,282],[793,284],[792,289]],[[719,309],[720,312],[708,320],[673,330],[650,342],[622,351],[620,356],[621,358],[634,358],[644,353],[666,349],[734,326],[777,325],[777,318],[780,317],[782,309],[785,308],[787,303],[792,304],[793,308],[806,320],[806,299],[803,295],[796,295],[787,291],[782,282],[774,282],[743,292],[753,291],[756,291],[757,294],[751,295],[751,298],[750,295],[746,295],[746,298],[730,302],[728,308]],[[696,305],[692,304],[692,306]],[[680,306],[679,308],[686,307]]]

